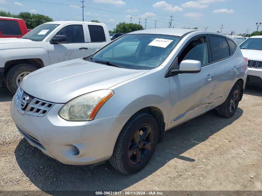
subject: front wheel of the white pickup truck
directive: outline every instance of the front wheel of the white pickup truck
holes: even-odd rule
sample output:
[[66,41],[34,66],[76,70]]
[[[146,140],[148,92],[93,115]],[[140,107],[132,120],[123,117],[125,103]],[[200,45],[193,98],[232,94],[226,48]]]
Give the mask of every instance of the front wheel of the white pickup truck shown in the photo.
[[18,88],[17,82],[20,84],[20,82],[26,75],[35,70],[37,70],[35,66],[26,63],[17,64],[11,67],[5,77],[7,89],[11,93],[15,94]]

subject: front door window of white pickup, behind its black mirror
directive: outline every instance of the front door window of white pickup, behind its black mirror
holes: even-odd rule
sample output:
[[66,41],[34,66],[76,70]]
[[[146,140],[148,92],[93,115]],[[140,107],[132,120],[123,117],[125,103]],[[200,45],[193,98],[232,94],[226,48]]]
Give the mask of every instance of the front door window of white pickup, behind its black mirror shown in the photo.
[[72,24],[62,28],[57,35],[65,35],[66,42],[63,43],[79,43],[85,42],[84,30],[82,24]]

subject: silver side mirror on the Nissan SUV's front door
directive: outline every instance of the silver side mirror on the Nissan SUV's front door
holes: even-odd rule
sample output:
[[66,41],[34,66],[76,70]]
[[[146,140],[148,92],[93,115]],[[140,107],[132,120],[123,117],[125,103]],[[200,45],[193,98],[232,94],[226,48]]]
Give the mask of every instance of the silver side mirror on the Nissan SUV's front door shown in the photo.
[[196,60],[184,60],[180,63],[179,72],[198,73],[201,71],[201,62]]

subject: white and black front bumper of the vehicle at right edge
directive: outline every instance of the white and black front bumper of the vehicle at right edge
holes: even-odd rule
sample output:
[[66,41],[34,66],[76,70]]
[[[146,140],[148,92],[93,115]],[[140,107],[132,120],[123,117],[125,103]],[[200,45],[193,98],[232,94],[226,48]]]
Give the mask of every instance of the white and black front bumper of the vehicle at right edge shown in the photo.
[[262,88],[262,69],[248,68],[246,84]]

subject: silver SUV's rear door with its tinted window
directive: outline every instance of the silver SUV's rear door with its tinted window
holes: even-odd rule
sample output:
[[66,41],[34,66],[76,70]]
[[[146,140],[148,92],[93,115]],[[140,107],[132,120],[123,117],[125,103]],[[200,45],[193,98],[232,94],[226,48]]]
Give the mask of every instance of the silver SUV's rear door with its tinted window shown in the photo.
[[[236,79],[238,78],[238,65],[234,53],[236,44],[220,35],[209,35],[212,62],[215,70],[214,90],[211,96],[211,107],[222,104]],[[231,47],[229,47],[231,46]]]

